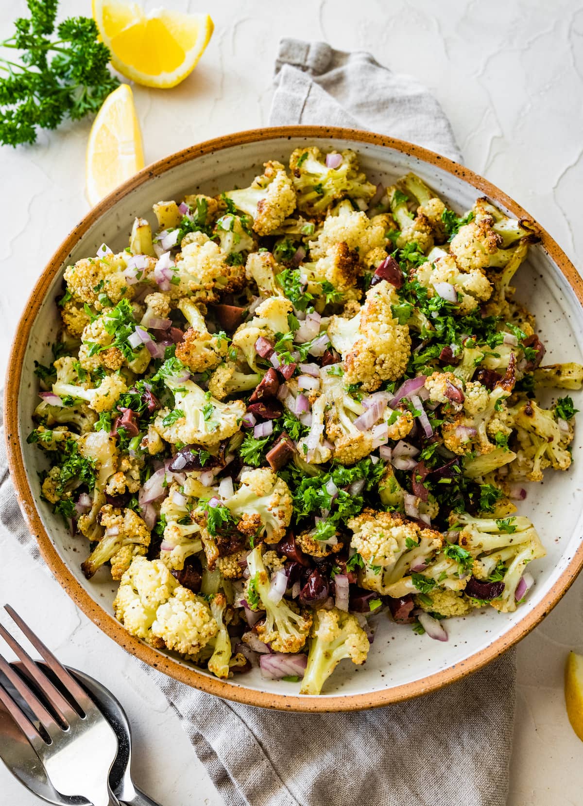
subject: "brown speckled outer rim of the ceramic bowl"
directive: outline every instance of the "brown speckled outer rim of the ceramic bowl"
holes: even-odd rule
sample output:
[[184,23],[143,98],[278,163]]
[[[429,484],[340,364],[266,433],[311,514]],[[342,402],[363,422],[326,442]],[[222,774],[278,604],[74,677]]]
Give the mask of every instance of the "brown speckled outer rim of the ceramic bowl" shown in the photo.
[[[56,274],[60,272],[68,254],[72,251],[72,248],[76,245],[78,240],[85,235],[89,226],[96,222],[101,214],[109,210],[122,197],[125,197],[132,190],[139,187],[139,185],[143,185],[152,177],[157,177],[167,170],[175,168],[177,165],[196,160],[199,156],[213,152],[221,152],[225,148],[244,146],[246,143],[297,137],[311,140],[322,138],[344,139],[353,141],[357,145],[358,143],[370,143],[375,146],[389,147],[395,151],[403,152],[403,154],[411,156],[416,160],[432,164],[454,176],[460,177],[462,180],[468,182],[469,185],[473,185],[473,187],[478,189],[481,193],[490,197],[494,202],[505,206],[516,218],[532,218],[527,214],[526,210],[523,210],[523,207],[508,197],[506,193],[502,193],[502,190],[499,190],[495,185],[491,185],[490,182],[478,176],[478,174],[473,171],[470,171],[469,168],[464,168],[460,164],[453,162],[453,160],[428,151],[426,148],[407,143],[403,140],[377,135],[369,131],[324,126],[271,127],[241,131],[236,134],[225,135],[185,148],[183,151],[176,152],[176,154],[167,156],[165,159],[148,165],[147,168],[143,168],[142,171],[126,181],[123,185],[120,185],[118,189],[114,190],[114,193],[110,193],[109,196],[99,202],[99,204],[77,224],[67,238],[64,239],[63,243],[61,243],[60,247],[49,261],[47,268],[44,269],[27,302],[27,306],[16,331],[18,336],[14,339],[10,351],[6,374],[6,393],[4,396],[6,448],[10,475],[14,481],[20,509],[23,511],[31,532],[35,535],[44,561],[55,575],[56,580],[60,582],[65,591],[68,592],[68,595],[71,596],[76,605],[83,610],[85,615],[125,650],[134,654],[149,666],[179,680],[180,683],[187,683],[193,688],[198,688],[209,694],[224,697],[227,700],[234,700],[239,703],[261,708],[275,708],[292,712],[325,713],[333,711],[354,711],[362,708],[376,708],[382,705],[408,700],[412,697],[420,696],[421,694],[427,694],[428,692],[434,692],[449,683],[453,683],[455,680],[465,677],[465,675],[469,675],[473,671],[481,669],[486,666],[486,663],[490,663],[492,660],[498,658],[521,638],[524,638],[535,625],[539,624],[561,597],[564,596],[571,584],[573,584],[573,580],[575,580],[583,565],[583,543],[573,555],[569,565],[549,589],[546,596],[544,596],[544,599],[527,613],[518,624],[508,629],[507,633],[497,638],[490,646],[486,646],[484,649],[473,653],[469,658],[459,663],[454,663],[447,669],[411,683],[404,683],[392,688],[382,689],[381,691],[362,694],[314,697],[260,692],[251,688],[245,688],[242,685],[231,685],[218,678],[205,675],[193,667],[184,667],[175,659],[152,649],[151,646],[147,646],[147,644],[141,642],[138,638],[131,636],[113,616],[106,613],[105,610],[89,596],[89,593],[82,588],[81,584],[64,563],[64,560],[61,559],[60,555],[57,553],[56,547],[53,546],[51,539],[48,537],[43,527],[43,523],[36,509],[31,487],[28,484],[27,472],[24,467],[23,448],[19,439],[18,401],[21,386],[21,368],[23,367],[24,355],[27,351],[31,328],[39,313],[42,302],[48,293],[52,280]],[[560,272],[562,272],[573,289],[577,300],[583,306],[583,280],[581,280],[577,270],[564,254],[564,251],[562,251],[558,244],[548,235],[548,232],[540,228],[540,235],[542,246],[548,252],[548,255],[552,257],[552,260],[555,261]]]

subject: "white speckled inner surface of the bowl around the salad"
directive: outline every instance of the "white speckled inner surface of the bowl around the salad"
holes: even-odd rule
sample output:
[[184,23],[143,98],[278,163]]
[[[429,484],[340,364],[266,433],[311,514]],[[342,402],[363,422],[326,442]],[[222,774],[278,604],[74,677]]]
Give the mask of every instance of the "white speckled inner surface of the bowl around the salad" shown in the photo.
[[[151,212],[152,203],[167,199],[179,200],[185,193],[204,192],[214,195],[236,185],[245,186],[260,172],[258,168],[265,160],[279,159],[287,163],[291,151],[306,143],[304,138],[263,140],[229,147],[172,168],[162,176],[140,185],[105,212],[76,244],[63,269],[81,257],[95,255],[97,247],[104,241],[114,251],[126,247],[136,215],[149,218],[155,223]],[[482,195],[461,178],[391,148],[327,139],[319,139],[318,144],[320,147],[354,147],[360,155],[362,168],[373,181],[387,183],[409,170],[417,172],[458,212],[468,209]],[[527,305],[538,320],[538,330],[547,347],[544,363],[569,360],[581,362],[581,305],[552,258],[540,245],[531,247],[527,262],[519,270],[516,285],[516,297]],[[88,543],[85,538],[72,538],[60,517],[53,516],[51,507],[41,501],[37,472],[46,465],[38,447],[26,442],[31,430],[31,413],[38,401],[36,378],[33,374],[34,361],[36,359],[41,363],[48,363],[50,360],[51,344],[59,327],[54,299],[60,288],[61,278],[58,276],[32,326],[22,368],[19,423],[24,462],[40,517],[56,550],[89,596],[108,613],[113,613],[111,605],[117,584],[112,583],[109,572],[105,569],[101,569],[93,580],[85,580],[80,564],[88,553]],[[576,405],[583,409],[577,393],[570,394]],[[583,429],[576,430],[573,443],[573,455],[576,457],[579,456],[582,439]],[[573,463],[568,475],[549,472],[544,484],[530,485],[527,499],[519,506],[519,512],[532,518],[548,554],[545,559],[532,564],[530,570],[535,576],[535,587],[532,588],[527,602],[515,613],[501,614],[488,609],[488,612],[477,611],[466,618],[450,619],[447,622],[449,642],[444,643],[432,641],[427,635],[418,636],[410,627],[395,625],[381,614],[377,618],[378,629],[366,664],[355,667],[352,663],[343,661],[330,679],[326,694],[330,696],[341,693],[350,696],[424,679],[465,661],[505,634],[543,599],[580,545],[581,507],[577,505],[577,497],[581,494],[582,486],[583,463],[578,461]],[[279,694],[296,694],[299,691],[299,684],[296,683],[263,680],[258,670],[229,680],[229,684]]]

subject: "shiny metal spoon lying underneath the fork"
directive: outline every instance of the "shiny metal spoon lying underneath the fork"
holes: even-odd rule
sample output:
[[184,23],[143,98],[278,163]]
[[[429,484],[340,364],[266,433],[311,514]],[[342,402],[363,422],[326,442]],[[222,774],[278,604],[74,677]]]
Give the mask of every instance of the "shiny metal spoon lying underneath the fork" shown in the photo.
[[[37,662],[43,671],[55,682],[56,678],[44,663]],[[19,663],[12,663],[15,668]],[[116,797],[127,806],[159,806],[143,792],[136,789],[131,779],[131,732],[130,723],[122,705],[114,695],[101,683],[82,671],[67,667],[68,671],[79,680],[89,695],[100,708],[118,737],[118,757],[115,759],[110,771],[110,785]],[[6,678],[2,677],[2,685],[11,688]],[[11,689],[10,693],[14,693]],[[18,695],[17,695],[18,696]],[[10,772],[19,779],[23,786],[39,798],[55,806],[83,806],[87,804],[84,798],[72,798],[60,795],[48,781],[42,762],[40,761],[27,739],[16,728],[11,717],[0,708],[0,758]]]

